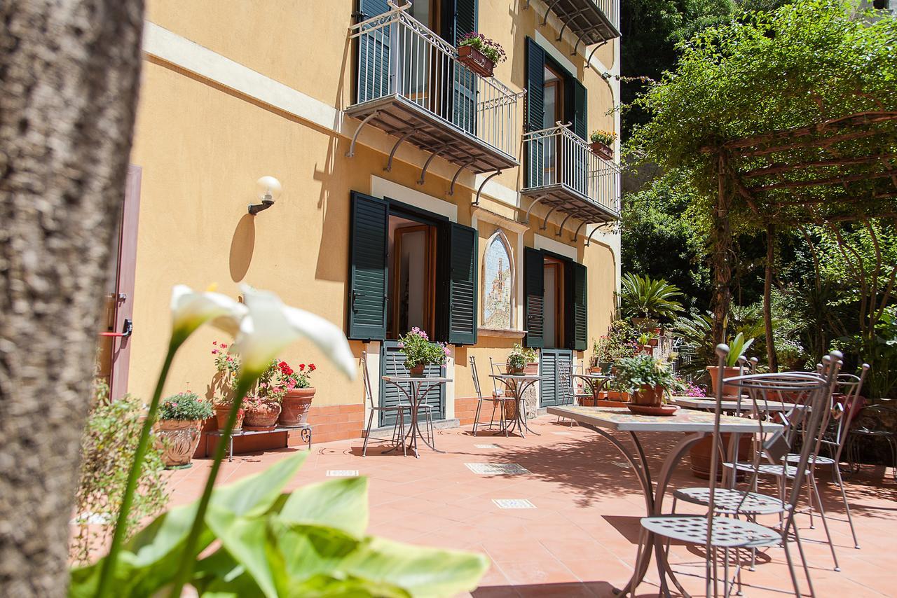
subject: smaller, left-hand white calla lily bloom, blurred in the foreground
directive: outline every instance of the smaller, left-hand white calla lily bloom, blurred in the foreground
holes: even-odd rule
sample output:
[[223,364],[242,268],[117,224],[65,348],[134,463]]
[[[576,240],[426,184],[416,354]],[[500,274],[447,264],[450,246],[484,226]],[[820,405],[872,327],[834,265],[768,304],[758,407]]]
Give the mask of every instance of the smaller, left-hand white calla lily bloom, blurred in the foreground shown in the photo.
[[178,344],[184,342],[206,322],[233,336],[247,312],[245,305],[222,293],[198,292],[185,284],[175,285],[171,290],[171,340]]

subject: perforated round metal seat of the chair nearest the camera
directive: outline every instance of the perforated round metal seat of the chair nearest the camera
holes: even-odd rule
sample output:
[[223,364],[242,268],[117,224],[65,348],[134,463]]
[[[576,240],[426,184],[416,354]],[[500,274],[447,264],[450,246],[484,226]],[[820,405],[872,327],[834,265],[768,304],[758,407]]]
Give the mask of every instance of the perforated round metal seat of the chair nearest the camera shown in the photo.
[[[660,536],[688,542],[707,542],[707,517],[696,515],[661,515],[642,517],[641,526]],[[775,530],[750,521],[729,517],[713,517],[710,544],[718,548],[759,548],[781,542]]]

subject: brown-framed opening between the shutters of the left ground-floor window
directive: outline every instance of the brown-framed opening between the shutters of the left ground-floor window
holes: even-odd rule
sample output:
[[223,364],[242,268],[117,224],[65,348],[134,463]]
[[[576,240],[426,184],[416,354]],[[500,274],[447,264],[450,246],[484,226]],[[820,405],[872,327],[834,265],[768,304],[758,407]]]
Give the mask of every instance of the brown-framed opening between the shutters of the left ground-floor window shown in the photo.
[[435,332],[436,240],[431,224],[389,216],[389,338],[415,326]]

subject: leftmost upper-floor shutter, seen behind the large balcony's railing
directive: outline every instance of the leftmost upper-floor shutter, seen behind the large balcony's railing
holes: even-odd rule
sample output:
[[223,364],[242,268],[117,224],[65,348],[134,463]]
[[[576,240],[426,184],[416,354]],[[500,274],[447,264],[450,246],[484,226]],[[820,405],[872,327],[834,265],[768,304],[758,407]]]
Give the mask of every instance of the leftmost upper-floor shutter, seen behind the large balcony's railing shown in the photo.
[[[378,14],[388,12],[387,0],[358,0],[358,21],[365,21]],[[362,30],[358,38],[359,77],[355,82],[357,103],[377,100],[388,95],[391,88],[389,77],[389,35],[390,27]]]

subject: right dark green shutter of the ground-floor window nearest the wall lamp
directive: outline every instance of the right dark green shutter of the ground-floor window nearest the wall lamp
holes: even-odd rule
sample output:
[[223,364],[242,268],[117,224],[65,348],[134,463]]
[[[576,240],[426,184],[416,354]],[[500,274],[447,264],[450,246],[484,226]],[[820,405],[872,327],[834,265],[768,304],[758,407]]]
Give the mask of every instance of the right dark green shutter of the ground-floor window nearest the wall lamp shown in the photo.
[[449,239],[448,342],[476,343],[477,233],[452,223]]

